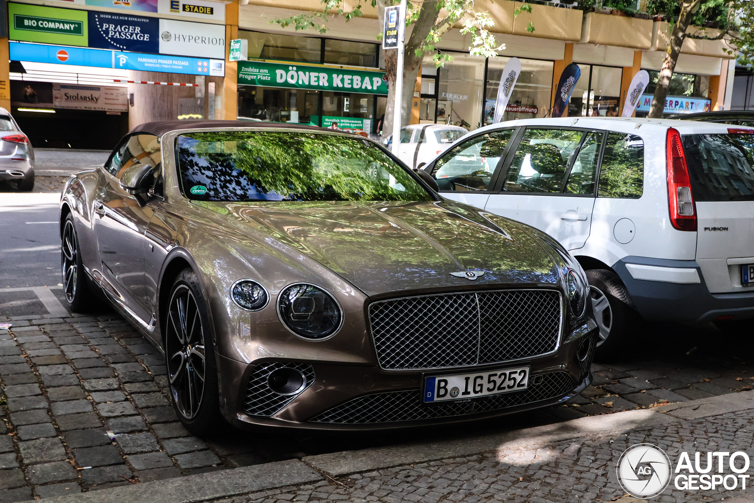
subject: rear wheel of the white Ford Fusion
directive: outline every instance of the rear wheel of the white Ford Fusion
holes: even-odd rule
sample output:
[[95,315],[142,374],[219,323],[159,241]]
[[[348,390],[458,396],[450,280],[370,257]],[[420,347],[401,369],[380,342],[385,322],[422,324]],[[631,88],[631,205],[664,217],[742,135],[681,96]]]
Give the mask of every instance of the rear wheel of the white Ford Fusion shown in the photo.
[[590,298],[599,327],[595,360],[612,360],[626,348],[639,325],[639,314],[631,307],[631,297],[621,278],[613,271],[590,269]]

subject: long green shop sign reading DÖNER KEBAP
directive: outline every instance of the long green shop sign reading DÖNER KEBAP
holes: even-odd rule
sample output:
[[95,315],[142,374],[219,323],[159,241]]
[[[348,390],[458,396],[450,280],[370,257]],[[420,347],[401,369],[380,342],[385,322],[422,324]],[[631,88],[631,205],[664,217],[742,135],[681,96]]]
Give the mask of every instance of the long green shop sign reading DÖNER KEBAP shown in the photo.
[[385,72],[367,72],[332,66],[305,66],[257,61],[238,63],[238,84],[388,94]]

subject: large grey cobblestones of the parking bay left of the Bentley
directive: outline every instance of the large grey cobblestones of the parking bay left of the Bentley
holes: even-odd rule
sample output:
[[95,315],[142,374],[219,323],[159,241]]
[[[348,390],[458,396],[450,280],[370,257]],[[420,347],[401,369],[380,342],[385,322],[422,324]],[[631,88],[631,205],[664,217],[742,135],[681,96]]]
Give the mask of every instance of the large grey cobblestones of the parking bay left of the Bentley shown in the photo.
[[121,317],[33,318],[0,330],[0,501],[303,455],[280,439],[261,452],[243,432],[189,434],[165,392],[163,357]]

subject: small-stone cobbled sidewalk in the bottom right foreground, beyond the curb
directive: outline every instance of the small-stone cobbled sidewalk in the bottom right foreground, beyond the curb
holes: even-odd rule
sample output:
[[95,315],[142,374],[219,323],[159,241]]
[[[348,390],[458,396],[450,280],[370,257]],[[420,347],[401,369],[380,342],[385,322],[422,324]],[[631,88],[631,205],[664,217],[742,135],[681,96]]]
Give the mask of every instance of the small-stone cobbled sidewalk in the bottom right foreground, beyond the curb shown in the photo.
[[[752,435],[754,418],[747,410],[694,421],[678,420],[663,427],[637,428],[615,437],[585,437],[516,449],[503,446],[497,452],[467,458],[355,474],[338,480],[216,500],[216,503],[576,503],[619,499],[638,502],[645,500],[624,497],[615,471],[621,453],[629,446],[652,443],[664,449],[674,463],[679,453],[686,451],[693,462],[697,450],[740,450],[751,454]],[[703,461],[702,466],[704,464]],[[743,460],[738,458],[735,466],[742,468],[742,465]],[[725,466],[722,476],[725,474],[733,472]],[[667,489],[647,501],[719,501],[750,494],[740,490],[740,483],[737,487],[734,490],[725,490],[722,486],[708,491],[679,490],[671,477]]]

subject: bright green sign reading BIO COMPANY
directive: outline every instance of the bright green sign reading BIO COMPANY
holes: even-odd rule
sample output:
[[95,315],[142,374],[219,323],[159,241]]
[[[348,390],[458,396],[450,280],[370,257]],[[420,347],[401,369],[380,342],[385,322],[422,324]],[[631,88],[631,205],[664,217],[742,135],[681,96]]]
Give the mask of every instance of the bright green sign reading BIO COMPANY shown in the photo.
[[86,11],[9,3],[8,17],[13,40],[79,47],[89,40]]

